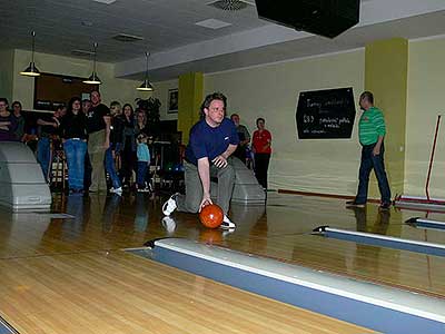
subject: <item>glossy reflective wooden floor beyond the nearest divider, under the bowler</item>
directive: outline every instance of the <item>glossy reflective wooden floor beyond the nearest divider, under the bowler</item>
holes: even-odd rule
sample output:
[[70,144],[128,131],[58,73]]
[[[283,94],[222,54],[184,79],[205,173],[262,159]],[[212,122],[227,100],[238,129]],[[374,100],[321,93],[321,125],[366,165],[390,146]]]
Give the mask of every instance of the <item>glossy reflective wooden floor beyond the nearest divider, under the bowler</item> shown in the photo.
[[266,208],[233,206],[238,228],[222,237],[218,230],[201,227],[196,215],[175,214],[177,227],[167,230],[160,223],[161,204],[160,198],[150,200],[141,194],[86,199],[60,196],[55,198],[53,210],[75,215],[75,219],[0,212],[0,258],[139,247],[151,238],[179,236],[445,296],[443,257],[310,235],[313,228],[330,225],[445,244],[445,232],[404,224],[422,213],[379,213],[376,206],[349,210],[343,200],[271,195]]

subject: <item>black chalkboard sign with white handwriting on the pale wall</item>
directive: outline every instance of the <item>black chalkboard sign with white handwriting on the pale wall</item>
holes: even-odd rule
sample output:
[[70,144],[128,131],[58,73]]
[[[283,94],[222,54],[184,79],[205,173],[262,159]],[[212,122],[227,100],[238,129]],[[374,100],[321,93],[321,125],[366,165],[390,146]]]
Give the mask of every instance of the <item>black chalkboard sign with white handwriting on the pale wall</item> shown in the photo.
[[355,119],[353,88],[301,91],[296,118],[299,139],[350,138]]

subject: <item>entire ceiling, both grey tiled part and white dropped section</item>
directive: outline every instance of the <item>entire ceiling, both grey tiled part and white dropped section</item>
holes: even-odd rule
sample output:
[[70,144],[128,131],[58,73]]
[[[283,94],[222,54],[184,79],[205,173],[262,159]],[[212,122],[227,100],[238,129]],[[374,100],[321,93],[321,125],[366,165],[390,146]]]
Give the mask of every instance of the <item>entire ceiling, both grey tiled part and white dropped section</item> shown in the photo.
[[[47,53],[72,57],[72,50],[91,50],[97,41],[98,60],[116,63],[117,77],[134,79],[144,77],[148,49],[150,77],[157,81],[186,71],[215,72],[343,51],[390,37],[445,35],[445,0],[362,0],[359,24],[333,40],[260,20],[254,6],[227,12],[207,6],[210,1],[117,0],[108,6],[92,0],[0,0],[0,48],[29,50],[31,30],[37,33],[36,50]],[[212,30],[195,24],[207,19],[231,26]],[[112,39],[117,33],[144,40],[120,42]]]

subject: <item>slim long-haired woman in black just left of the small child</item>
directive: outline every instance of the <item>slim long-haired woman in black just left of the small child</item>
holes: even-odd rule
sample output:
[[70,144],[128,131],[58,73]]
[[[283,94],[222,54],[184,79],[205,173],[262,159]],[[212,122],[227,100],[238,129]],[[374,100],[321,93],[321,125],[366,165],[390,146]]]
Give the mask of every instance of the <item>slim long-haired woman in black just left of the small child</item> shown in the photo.
[[121,147],[121,178],[123,187],[130,186],[130,179],[136,163],[136,131],[135,115],[131,105],[122,107],[122,147]]

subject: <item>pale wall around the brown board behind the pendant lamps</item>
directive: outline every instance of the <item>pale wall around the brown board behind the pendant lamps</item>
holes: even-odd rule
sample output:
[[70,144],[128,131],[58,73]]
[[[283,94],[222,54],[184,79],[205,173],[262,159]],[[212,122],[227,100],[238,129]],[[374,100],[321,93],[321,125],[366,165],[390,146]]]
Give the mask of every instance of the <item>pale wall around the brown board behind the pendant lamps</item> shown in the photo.
[[[13,87],[12,95],[14,100],[23,105],[23,109],[32,109],[34,80],[29,77],[20,76],[19,72],[29,65],[31,53],[29,51],[16,50],[13,62]],[[36,66],[41,72],[67,75],[73,77],[89,77],[92,70],[92,61],[89,59],[77,59],[48,53],[36,53]],[[135,105],[135,98],[147,98],[150,92],[136,90],[139,81],[116,79],[115,67],[111,63],[99,62],[97,65],[99,78],[102,80],[100,92],[102,101],[110,104],[118,100],[121,104],[129,102]]]

